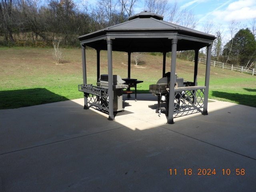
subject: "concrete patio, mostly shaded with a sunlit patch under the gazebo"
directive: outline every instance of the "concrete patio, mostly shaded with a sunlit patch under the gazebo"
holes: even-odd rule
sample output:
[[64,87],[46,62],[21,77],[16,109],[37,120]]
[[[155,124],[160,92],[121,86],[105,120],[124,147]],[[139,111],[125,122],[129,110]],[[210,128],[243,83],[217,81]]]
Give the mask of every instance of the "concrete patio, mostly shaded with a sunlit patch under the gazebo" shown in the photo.
[[137,99],[114,121],[83,98],[0,110],[0,192],[256,191],[256,108],[214,101],[166,124]]

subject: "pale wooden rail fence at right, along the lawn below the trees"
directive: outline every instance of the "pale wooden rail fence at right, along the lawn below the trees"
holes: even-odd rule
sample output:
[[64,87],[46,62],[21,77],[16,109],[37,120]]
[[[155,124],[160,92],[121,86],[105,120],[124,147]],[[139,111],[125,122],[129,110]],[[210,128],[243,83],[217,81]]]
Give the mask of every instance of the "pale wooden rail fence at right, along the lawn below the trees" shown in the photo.
[[[193,59],[194,61],[194,59]],[[206,64],[206,59],[204,58],[198,58],[198,63],[204,63]],[[232,71],[238,71],[241,73],[249,73],[252,75],[256,75],[256,69],[255,68],[248,68],[248,67],[243,67],[243,66],[234,66],[231,64],[226,64],[218,61],[211,61],[211,66],[222,68],[222,69],[228,69]]]

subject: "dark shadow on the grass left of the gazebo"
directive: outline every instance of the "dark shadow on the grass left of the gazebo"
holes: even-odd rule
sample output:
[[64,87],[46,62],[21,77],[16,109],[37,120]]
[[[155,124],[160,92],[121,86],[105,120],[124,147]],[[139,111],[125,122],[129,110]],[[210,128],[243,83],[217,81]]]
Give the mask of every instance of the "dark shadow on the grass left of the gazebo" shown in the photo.
[[69,100],[45,88],[0,91],[0,109],[13,109]]

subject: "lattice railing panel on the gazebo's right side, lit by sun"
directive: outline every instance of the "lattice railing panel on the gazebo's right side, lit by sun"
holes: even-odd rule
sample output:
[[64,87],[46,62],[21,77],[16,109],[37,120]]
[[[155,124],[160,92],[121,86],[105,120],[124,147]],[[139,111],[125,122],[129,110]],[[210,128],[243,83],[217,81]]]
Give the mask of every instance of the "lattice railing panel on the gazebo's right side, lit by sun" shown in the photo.
[[205,88],[205,86],[175,88],[173,117],[175,118],[202,112],[202,109],[204,108]]

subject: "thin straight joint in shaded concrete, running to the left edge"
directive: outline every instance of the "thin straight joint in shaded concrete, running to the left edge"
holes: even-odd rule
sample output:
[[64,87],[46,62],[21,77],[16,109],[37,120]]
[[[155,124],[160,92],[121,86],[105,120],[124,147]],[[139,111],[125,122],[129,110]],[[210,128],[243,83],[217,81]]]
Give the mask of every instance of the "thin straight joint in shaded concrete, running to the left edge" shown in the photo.
[[0,156],[1,155],[5,155],[5,154],[14,153],[14,152],[23,151],[23,150],[28,150],[28,149],[32,149],[32,148],[47,146],[47,145],[50,145],[50,144],[56,144],[56,143],[60,143],[60,142],[65,142],[65,141],[68,141],[68,140],[82,138],[82,137],[86,137],[86,136],[90,136],[90,135],[100,134],[100,133],[104,133],[104,132],[108,132],[108,131],[118,130],[118,129],[121,129],[121,128],[125,128],[125,126],[120,126],[118,128],[108,129],[108,130],[104,130],[104,131],[100,131],[100,132],[95,132],[95,133],[90,133],[90,134],[86,134],[86,135],[80,135],[80,136],[76,136],[76,137],[72,137],[72,138],[67,138],[67,139],[58,140],[58,141],[54,141],[54,142],[50,142],[50,143],[45,143],[45,144],[41,144],[41,145],[37,145],[37,146],[27,147],[27,148],[23,148],[23,149],[19,149],[19,150],[9,151],[9,152],[5,152],[5,153],[1,153]]

